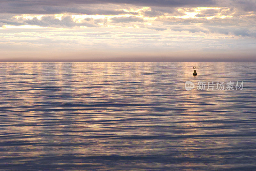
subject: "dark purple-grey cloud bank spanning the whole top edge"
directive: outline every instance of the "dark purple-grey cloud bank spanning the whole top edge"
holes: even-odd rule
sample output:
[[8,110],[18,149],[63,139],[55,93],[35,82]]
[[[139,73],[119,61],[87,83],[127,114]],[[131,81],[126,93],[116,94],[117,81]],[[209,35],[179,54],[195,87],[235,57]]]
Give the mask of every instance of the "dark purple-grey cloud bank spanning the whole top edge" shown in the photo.
[[[147,6],[151,7],[151,11],[146,11],[145,15],[162,15],[166,13],[167,8],[177,7],[236,7],[244,11],[255,11],[255,0],[1,0],[1,13],[13,14],[99,14],[99,15],[118,15],[118,14],[132,14],[136,12],[127,12],[124,10],[116,10],[119,7],[135,7]],[[162,9],[160,9],[162,8]],[[165,8],[165,9],[164,9]],[[121,8],[122,9],[122,8]],[[188,11],[189,12],[189,11]],[[207,11],[206,11],[207,13]],[[208,13],[208,15],[210,15]]]

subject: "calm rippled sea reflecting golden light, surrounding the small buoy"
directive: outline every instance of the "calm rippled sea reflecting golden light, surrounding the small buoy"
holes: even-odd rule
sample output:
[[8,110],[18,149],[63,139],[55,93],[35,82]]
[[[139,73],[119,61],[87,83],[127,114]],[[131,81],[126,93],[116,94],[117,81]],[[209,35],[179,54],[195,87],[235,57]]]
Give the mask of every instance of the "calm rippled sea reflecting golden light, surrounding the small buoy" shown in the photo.
[[0,100],[1,171],[256,170],[255,62],[0,63]]

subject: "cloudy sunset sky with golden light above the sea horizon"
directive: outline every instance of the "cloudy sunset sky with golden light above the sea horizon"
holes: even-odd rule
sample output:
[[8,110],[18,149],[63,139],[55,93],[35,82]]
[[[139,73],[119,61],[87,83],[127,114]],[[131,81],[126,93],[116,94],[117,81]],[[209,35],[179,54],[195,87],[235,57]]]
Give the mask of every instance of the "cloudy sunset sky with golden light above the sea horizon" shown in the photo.
[[256,0],[0,0],[0,62],[256,61]]

